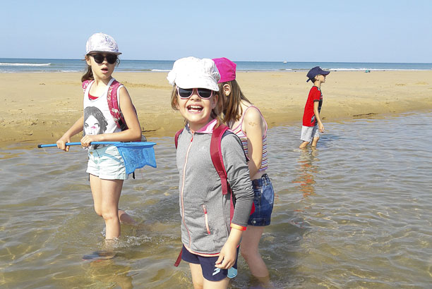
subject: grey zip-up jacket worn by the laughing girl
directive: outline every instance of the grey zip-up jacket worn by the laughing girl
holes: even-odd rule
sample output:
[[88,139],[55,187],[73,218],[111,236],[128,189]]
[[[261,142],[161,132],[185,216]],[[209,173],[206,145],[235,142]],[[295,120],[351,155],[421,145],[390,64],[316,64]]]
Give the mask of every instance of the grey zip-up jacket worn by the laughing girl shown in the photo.
[[[217,256],[230,232],[229,194],[222,195],[220,177],[210,156],[215,121],[204,131],[184,128],[177,146],[181,242],[193,254]],[[232,223],[247,226],[253,203],[253,188],[239,137],[225,133],[222,158],[235,199]]]

